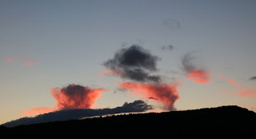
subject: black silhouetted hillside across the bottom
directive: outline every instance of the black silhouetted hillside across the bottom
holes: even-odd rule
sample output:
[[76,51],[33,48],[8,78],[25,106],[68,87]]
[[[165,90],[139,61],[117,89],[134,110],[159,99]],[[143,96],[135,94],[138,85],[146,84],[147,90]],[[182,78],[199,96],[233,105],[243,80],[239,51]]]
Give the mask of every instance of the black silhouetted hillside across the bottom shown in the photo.
[[56,121],[14,128],[1,127],[1,137],[72,138],[231,138],[256,137],[256,113],[238,106],[126,114]]

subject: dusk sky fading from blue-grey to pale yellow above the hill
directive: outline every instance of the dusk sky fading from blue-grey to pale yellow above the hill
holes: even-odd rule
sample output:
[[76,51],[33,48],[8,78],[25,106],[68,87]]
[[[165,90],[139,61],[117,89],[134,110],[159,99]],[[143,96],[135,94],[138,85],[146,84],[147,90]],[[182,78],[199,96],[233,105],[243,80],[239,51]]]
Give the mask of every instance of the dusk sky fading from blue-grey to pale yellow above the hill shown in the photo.
[[[142,99],[155,111],[220,105],[256,111],[255,6],[254,0],[2,0],[0,124],[30,109],[66,109],[58,98],[74,85],[86,94],[99,91],[83,108]],[[115,58],[132,48],[153,65],[125,66]],[[134,68],[160,83],[131,77]],[[159,86],[176,95],[171,103]]]

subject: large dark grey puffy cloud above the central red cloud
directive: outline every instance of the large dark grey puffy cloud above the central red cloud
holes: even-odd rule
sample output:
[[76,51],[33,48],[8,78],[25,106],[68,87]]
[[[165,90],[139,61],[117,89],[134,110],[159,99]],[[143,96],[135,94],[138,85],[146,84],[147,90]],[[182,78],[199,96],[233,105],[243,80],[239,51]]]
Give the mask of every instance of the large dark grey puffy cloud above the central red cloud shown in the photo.
[[133,45],[119,50],[114,54],[114,58],[104,62],[103,65],[122,78],[158,82],[161,80],[160,76],[150,74],[157,70],[158,59],[141,46]]

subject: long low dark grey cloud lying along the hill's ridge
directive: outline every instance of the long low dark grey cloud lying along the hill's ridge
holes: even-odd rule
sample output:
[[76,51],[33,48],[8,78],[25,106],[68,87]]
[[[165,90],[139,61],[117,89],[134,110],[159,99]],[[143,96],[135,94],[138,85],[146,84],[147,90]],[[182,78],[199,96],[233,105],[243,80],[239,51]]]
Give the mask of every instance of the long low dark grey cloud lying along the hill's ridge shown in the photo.
[[6,127],[18,125],[31,125],[36,123],[45,123],[50,121],[67,121],[71,119],[81,119],[84,117],[102,116],[115,113],[145,112],[152,109],[145,101],[138,100],[131,103],[125,102],[122,106],[113,109],[63,109],[53,113],[45,113],[36,117],[22,117],[15,121],[4,124]]

